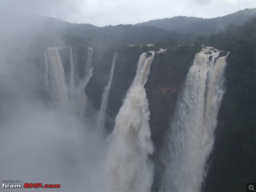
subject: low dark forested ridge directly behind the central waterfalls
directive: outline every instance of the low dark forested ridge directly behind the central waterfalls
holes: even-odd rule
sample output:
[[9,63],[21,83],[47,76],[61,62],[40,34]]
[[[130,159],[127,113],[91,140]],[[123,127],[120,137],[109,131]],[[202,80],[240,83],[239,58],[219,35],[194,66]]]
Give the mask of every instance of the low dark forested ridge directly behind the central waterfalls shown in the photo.
[[[89,45],[125,45],[125,44],[155,44],[164,38],[174,38],[182,44],[189,37],[175,31],[152,26],[117,25],[87,30],[83,36],[67,34],[64,39],[73,46]],[[70,41],[70,42],[69,42]]]

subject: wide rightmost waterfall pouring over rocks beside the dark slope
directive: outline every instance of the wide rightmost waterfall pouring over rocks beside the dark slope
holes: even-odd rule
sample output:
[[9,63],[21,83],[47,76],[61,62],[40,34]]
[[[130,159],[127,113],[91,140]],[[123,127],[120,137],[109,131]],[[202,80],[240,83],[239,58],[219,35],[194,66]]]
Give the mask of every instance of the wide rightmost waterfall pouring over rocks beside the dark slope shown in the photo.
[[165,171],[160,191],[200,191],[205,163],[212,150],[214,129],[225,92],[226,57],[204,49],[193,66],[171,120],[167,149],[162,153]]

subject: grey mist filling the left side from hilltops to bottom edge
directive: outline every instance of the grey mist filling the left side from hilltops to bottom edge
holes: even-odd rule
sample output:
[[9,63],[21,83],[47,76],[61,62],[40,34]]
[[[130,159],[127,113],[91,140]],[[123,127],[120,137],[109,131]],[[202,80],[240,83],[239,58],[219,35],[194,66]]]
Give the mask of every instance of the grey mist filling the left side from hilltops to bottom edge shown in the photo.
[[68,101],[49,105],[44,59],[36,60],[44,58],[44,49],[30,36],[44,29],[26,17],[13,18],[1,17],[0,179],[102,191],[107,137],[94,129],[98,111],[88,103],[86,118]]

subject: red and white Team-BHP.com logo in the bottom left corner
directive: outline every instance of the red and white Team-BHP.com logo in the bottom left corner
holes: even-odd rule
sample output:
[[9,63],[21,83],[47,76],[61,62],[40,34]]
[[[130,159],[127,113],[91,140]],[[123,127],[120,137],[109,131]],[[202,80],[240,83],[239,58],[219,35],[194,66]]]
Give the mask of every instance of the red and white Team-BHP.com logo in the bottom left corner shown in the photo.
[[44,189],[42,188],[45,188],[45,191],[60,191],[59,184],[43,185],[42,183],[24,183],[24,185],[21,185],[21,184],[1,183],[1,186],[2,186],[2,191],[21,191],[20,188],[23,188],[22,191],[44,191]]

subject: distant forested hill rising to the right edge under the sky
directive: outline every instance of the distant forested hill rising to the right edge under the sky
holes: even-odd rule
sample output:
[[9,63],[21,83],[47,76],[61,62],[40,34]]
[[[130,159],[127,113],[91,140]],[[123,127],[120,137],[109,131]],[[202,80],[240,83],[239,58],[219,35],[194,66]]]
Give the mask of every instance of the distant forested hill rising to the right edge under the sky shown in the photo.
[[246,20],[253,17],[255,17],[255,8],[240,10],[223,17],[216,17],[212,19],[178,16],[137,23],[136,26],[148,25],[182,33],[211,35],[213,33],[220,32],[225,28],[225,26],[230,24],[241,26]]

